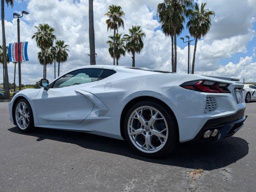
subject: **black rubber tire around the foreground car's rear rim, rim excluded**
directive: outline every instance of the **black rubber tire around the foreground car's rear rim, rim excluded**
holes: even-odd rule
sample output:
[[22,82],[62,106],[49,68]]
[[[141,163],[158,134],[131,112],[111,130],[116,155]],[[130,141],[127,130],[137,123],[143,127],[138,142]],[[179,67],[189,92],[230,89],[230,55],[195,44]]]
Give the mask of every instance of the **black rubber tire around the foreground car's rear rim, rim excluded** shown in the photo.
[[[150,106],[157,109],[164,116],[166,123],[168,125],[168,137],[167,137],[166,143],[160,150],[154,153],[142,152],[141,150],[136,148],[136,146],[134,146],[133,142],[131,141],[128,133],[128,121],[129,121],[130,115],[134,112],[134,110],[142,106]],[[176,147],[179,144],[178,125],[177,125],[174,114],[170,113],[170,111],[167,110],[166,107],[162,106],[161,103],[155,102],[155,101],[138,102],[128,110],[124,120],[124,134],[130,147],[141,156],[144,156],[147,158],[156,158],[159,156],[165,156],[167,154],[170,154],[176,149]]]

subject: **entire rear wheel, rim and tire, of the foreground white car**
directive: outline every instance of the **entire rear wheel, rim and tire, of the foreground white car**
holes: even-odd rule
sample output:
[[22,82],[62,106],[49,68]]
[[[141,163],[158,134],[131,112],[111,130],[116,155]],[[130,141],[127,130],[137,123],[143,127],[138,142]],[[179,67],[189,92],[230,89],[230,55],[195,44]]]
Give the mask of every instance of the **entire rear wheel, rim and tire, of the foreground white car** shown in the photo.
[[124,129],[129,145],[142,156],[166,155],[178,144],[176,119],[158,102],[143,101],[132,106]]

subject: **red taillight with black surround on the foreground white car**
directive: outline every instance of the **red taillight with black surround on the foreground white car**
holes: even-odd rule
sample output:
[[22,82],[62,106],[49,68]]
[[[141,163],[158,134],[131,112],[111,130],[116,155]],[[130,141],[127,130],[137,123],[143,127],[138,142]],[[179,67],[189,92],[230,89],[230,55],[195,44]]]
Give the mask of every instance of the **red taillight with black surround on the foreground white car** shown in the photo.
[[206,93],[230,93],[230,91],[228,90],[228,83],[214,82],[208,80],[185,82],[180,86],[185,89]]

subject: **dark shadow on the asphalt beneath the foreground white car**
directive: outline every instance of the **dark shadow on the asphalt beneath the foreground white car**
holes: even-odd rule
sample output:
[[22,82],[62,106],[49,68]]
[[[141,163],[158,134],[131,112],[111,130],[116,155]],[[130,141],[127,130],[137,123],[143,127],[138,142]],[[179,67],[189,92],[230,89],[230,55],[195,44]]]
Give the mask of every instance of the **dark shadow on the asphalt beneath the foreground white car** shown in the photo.
[[118,154],[157,164],[179,166],[192,169],[214,170],[232,164],[248,154],[248,143],[238,137],[226,138],[211,144],[181,144],[176,152],[158,159],[139,156],[124,140],[117,140],[88,133],[70,132],[39,128],[34,133],[23,133],[17,127],[11,132],[36,137],[36,141],[55,140],[77,144],[80,147]]

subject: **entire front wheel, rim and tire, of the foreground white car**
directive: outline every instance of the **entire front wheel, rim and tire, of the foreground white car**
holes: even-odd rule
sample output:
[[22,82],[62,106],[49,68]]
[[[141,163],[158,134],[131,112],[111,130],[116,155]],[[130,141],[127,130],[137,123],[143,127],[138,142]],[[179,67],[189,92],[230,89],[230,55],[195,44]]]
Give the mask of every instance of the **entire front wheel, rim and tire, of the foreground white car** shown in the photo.
[[34,130],[33,113],[27,100],[19,100],[15,105],[14,112],[14,120],[20,131],[31,132]]

